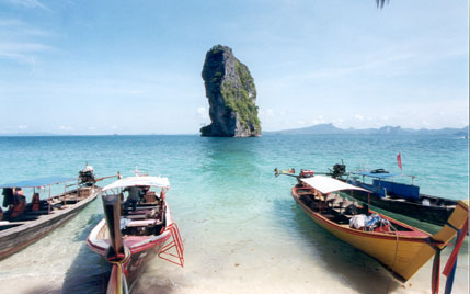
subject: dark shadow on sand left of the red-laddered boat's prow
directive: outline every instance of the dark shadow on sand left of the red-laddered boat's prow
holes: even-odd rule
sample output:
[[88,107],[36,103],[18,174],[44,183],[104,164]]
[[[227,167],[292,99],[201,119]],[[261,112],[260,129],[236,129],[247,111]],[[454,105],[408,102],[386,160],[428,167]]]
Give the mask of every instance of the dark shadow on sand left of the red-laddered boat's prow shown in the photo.
[[110,267],[103,258],[87,246],[87,237],[102,219],[102,214],[93,214],[87,227],[80,230],[73,241],[81,242],[79,253],[67,270],[61,293],[105,293]]

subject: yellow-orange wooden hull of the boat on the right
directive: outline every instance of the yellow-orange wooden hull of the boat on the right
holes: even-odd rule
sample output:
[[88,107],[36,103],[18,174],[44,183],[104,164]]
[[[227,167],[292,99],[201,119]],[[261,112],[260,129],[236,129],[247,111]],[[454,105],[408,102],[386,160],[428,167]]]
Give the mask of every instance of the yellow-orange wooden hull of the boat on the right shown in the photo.
[[[339,239],[354,246],[366,255],[375,258],[390,270],[401,281],[409,280],[421,267],[423,267],[434,255],[436,247],[444,246],[455,237],[456,231],[446,225],[442,231],[435,236],[413,228],[413,233],[406,234],[385,234],[375,231],[363,231],[341,226],[320,213],[312,211],[307,206],[297,194],[297,186],[293,188],[293,197],[300,207],[316,222],[318,225],[326,229]],[[305,188],[303,188],[305,189]],[[468,203],[462,204],[457,214],[452,214],[449,222],[459,228],[467,222]],[[392,224],[410,227],[390,217],[380,215],[382,218],[389,219]],[[440,235],[439,235],[440,234]],[[408,235],[408,236],[406,236]],[[414,235],[414,236],[413,236]]]

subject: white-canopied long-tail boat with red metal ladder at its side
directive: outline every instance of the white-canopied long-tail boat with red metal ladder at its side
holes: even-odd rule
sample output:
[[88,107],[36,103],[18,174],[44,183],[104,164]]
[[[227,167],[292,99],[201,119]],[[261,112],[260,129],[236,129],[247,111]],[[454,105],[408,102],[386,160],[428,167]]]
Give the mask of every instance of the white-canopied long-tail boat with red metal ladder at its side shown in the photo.
[[[168,178],[149,176],[119,179],[103,188],[105,217],[92,229],[87,245],[111,265],[106,293],[129,293],[156,255],[184,265],[183,242],[165,201],[169,189]],[[129,194],[123,203],[125,192]]]

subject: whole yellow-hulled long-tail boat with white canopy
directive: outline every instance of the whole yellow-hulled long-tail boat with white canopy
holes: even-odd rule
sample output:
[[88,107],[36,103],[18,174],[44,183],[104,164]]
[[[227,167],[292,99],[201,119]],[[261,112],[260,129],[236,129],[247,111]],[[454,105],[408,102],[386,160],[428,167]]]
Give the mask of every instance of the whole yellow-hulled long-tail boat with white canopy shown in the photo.
[[[367,192],[323,176],[301,178],[291,189],[294,200],[313,222],[378,260],[401,281],[409,280],[467,226],[468,201],[459,201],[444,227],[431,235],[370,211],[353,197],[347,200],[344,191]],[[360,218],[363,222],[357,222]]]

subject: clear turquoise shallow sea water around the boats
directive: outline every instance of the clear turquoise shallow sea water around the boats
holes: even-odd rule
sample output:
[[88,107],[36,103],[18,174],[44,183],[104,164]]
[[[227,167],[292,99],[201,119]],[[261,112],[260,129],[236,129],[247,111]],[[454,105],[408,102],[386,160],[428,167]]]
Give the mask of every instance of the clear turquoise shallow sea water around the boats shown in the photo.
[[[85,161],[98,177],[117,171],[131,176],[136,166],[168,177],[185,268],[156,258],[137,293],[386,293],[387,286],[389,292],[427,293],[431,263],[399,283],[376,261],[313,224],[290,196],[295,179],[273,176],[275,167],[326,171],[341,159],[348,170],[398,171],[399,151],[403,173],[417,176],[422,193],[468,199],[468,139],[435,136],[0,137],[0,182],[74,177]],[[95,201],[66,226],[0,261],[2,293],[99,293],[104,262],[84,241],[102,216]],[[468,274],[466,240],[455,293],[468,293]]]

